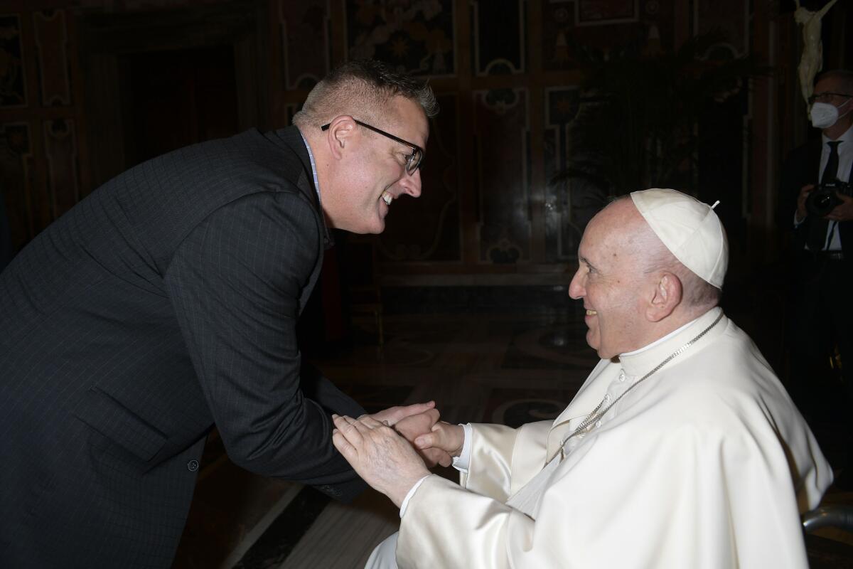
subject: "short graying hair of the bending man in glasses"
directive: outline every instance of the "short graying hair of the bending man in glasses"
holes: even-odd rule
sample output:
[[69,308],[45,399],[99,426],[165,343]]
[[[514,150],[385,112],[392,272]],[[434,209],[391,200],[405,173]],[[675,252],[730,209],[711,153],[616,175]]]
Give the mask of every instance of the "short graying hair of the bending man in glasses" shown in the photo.
[[396,96],[418,103],[427,119],[438,114],[438,102],[426,82],[397,73],[381,61],[347,61],[315,85],[302,110],[293,116],[293,124],[305,132],[350,115],[382,125],[388,122],[388,103]]

